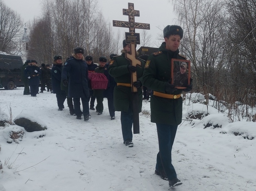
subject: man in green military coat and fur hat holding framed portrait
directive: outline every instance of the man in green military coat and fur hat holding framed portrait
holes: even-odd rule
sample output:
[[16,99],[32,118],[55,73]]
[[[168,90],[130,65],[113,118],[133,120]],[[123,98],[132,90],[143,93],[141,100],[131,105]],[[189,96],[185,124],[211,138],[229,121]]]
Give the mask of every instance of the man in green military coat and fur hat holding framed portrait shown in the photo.
[[154,91],[150,99],[151,122],[156,123],[159,152],[156,156],[155,174],[169,181],[169,186],[181,185],[172,165],[172,146],[178,125],[182,121],[182,91],[171,84],[171,59],[186,59],[179,54],[179,45],[183,37],[183,29],[177,25],[168,25],[163,30],[164,42],[159,51],[149,56],[143,72],[143,84]]

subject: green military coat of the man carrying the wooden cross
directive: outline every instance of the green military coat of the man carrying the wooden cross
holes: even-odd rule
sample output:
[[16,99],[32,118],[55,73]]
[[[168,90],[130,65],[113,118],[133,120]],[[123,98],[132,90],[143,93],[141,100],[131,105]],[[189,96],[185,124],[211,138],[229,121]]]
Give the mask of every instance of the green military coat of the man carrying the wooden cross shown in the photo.
[[[138,58],[139,59],[139,58]],[[137,80],[142,82],[142,74],[144,69],[144,61],[141,60],[141,66],[137,66]],[[131,73],[127,66],[131,65],[130,61],[125,58],[125,53],[120,56],[113,57],[113,60],[109,63],[108,73],[114,77],[116,83],[131,84]],[[139,96],[139,112],[142,107],[142,87],[138,88]],[[128,112],[129,107],[132,109],[132,89],[131,87],[117,85],[114,89],[114,107],[116,111]]]

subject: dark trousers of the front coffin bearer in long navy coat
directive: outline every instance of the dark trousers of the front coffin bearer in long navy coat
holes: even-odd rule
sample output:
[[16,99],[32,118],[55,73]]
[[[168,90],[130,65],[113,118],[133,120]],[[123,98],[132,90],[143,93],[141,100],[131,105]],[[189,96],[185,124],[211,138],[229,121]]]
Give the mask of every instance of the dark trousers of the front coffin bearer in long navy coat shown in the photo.
[[84,117],[89,115],[89,100],[90,100],[90,97],[81,97],[82,106],[83,106],[83,112],[82,112],[80,109],[80,97],[73,97],[74,111],[77,117],[81,117],[82,114]]

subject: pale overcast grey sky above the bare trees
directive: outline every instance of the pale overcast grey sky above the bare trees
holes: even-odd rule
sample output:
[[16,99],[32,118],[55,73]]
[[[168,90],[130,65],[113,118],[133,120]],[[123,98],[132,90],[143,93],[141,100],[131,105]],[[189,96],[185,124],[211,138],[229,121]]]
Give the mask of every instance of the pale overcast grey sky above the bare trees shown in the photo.
[[[3,0],[3,2],[17,11],[24,22],[32,21],[34,17],[41,14],[41,0]],[[158,33],[162,33],[160,27],[163,29],[166,25],[175,24],[175,14],[173,13],[173,6],[168,0],[98,0],[101,12],[104,18],[111,23],[113,20],[128,21],[128,16],[123,15],[123,9],[128,9],[128,2],[134,3],[135,10],[140,11],[140,17],[135,17],[135,22],[149,23],[149,33],[152,35],[151,41],[154,43]],[[129,32],[128,28],[113,27],[113,31],[120,30],[121,34]],[[140,29],[136,29],[137,33],[141,33]],[[154,47],[160,45],[159,41],[154,43]]]

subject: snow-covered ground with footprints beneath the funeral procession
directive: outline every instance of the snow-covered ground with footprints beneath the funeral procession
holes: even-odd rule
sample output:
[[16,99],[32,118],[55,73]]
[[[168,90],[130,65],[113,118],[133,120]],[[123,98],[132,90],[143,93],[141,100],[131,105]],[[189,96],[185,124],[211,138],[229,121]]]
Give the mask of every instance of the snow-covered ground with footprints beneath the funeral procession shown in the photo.
[[[89,121],[75,119],[66,101],[64,106],[58,111],[56,96],[49,92],[31,97],[23,95],[23,87],[0,89],[0,115],[10,119],[11,108],[13,120],[26,115],[47,126],[11,144],[9,132],[23,127],[0,128],[1,191],[256,190],[255,122],[230,123],[217,109],[186,99],[172,151],[183,184],[169,188],[168,181],[154,174],[158,138],[148,101],[143,100],[140,134],[133,135],[132,148],[123,144],[120,112],[110,120],[106,99],[103,114],[90,110]],[[186,120],[197,112],[208,115]]]

